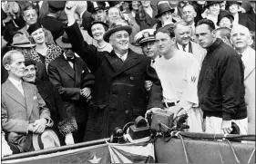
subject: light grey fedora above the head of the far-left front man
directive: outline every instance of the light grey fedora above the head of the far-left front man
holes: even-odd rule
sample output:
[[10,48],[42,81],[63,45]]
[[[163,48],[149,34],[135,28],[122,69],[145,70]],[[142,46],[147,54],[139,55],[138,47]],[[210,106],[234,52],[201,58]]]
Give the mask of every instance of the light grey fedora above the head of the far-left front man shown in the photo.
[[11,46],[29,48],[29,47],[36,46],[36,44],[31,43],[29,39],[26,37],[26,34],[15,34],[13,37],[13,43],[11,44]]

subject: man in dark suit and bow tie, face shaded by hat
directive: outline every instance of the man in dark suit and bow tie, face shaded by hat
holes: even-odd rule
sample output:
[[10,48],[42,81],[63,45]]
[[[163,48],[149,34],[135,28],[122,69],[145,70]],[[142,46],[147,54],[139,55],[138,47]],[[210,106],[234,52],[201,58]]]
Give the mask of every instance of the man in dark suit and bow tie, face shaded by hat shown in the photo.
[[67,34],[56,40],[63,54],[49,63],[50,81],[65,103],[67,118],[58,124],[60,133],[65,136],[66,144],[83,141],[87,123],[87,101],[91,99],[91,86],[94,76],[87,64],[77,57],[72,49]]

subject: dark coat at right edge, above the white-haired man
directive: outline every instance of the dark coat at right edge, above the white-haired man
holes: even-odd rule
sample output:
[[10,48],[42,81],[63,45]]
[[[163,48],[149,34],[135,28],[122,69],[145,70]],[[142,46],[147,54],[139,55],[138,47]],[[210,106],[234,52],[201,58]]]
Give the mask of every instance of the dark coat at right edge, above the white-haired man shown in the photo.
[[255,19],[256,14],[252,9],[247,13],[239,13],[239,24],[246,26],[252,32],[255,32]]

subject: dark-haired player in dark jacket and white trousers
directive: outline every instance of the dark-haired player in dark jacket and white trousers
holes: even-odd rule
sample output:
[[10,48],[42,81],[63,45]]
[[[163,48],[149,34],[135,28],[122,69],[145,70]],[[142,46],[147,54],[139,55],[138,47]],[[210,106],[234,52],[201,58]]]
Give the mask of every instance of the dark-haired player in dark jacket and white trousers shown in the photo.
[[214,36],[214,23],[202,19],[196,26],[200,46],[207,50],[198,82],[200,109],[204,112],[205,132],[230,134],[232,121],[247,134],[244,71],[239,54]]

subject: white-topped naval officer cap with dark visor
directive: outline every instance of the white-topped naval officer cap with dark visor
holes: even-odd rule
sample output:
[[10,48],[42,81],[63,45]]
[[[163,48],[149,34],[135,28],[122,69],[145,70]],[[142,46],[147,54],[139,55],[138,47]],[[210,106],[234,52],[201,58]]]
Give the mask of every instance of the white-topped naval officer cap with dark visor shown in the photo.
[[156,41],[155,32],[155,29],[142,30],[134,36],[134,41],[138,45],[141,45],[142,43],[146,43],[149,41]]

